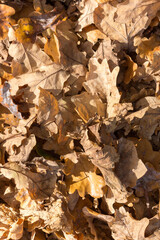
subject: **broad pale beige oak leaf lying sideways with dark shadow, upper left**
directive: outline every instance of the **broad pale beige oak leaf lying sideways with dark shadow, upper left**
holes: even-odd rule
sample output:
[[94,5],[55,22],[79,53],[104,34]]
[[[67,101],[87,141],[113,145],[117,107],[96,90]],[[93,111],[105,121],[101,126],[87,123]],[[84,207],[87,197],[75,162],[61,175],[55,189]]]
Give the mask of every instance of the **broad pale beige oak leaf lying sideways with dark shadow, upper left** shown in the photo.
[[40,88],[47,89],[54,96],[60,94],[69,74],[57,64],[42,66],[37,72],[26,73],[11,79],[11,95],[18,92],[28,103],[38,105]]

